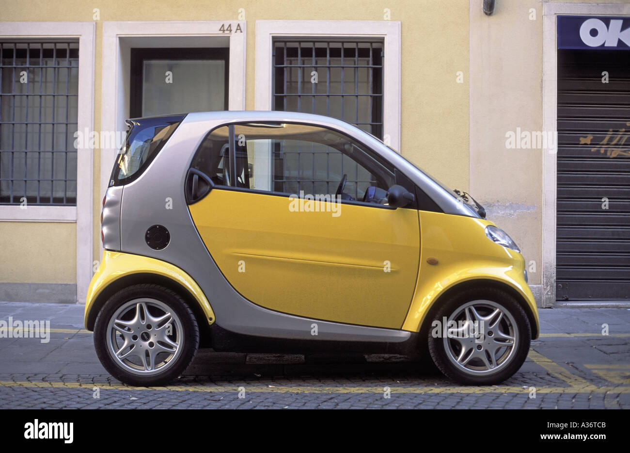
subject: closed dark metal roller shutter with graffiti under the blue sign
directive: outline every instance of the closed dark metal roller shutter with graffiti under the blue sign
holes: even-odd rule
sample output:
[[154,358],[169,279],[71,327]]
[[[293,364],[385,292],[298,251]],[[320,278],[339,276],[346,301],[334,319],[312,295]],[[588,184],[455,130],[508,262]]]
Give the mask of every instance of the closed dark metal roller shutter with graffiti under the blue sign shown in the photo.
[[556,299],[630,300],[630,50],[558,50],[557,172]]

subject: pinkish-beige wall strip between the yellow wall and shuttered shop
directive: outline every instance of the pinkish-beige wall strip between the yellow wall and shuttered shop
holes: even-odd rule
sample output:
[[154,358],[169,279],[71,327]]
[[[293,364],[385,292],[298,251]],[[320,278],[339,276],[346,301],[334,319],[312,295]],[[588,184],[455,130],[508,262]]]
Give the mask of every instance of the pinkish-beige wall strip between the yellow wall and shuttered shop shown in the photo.
[[[471,192],[521,247],[525,261],[534,262],[530,285],[541,285],[543,155],[548,151],[508,149],[505,134],[517,127],[542,131],[543,2],[497,0],[491,16],[484,15],[482,4],[469,4]],[[536,20],[530,20],[531,8]]]

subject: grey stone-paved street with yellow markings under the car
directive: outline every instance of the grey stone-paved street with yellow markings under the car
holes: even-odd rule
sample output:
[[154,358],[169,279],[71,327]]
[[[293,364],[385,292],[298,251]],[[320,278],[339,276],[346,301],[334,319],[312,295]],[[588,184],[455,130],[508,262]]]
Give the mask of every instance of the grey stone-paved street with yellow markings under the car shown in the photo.
[[83,308],[0,302],[0,322],[51,327],[47,343],[0,338],[0,408],[630,408],[627,308],[541,309],[541,338],[501,385],[454,384],[421,356],[200,350],[180,379],[151,388],[107,374]]

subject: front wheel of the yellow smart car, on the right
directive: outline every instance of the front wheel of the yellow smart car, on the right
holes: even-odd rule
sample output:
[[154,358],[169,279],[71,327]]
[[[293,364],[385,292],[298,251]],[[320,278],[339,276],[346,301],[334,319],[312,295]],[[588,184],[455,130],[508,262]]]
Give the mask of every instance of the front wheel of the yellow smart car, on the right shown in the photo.
[[515,298],[495,288],[470,288],[437,310],[427,341],[433,362],[447,377],[466,385],[493,385],[523,365],[531,338],[529,319]]

